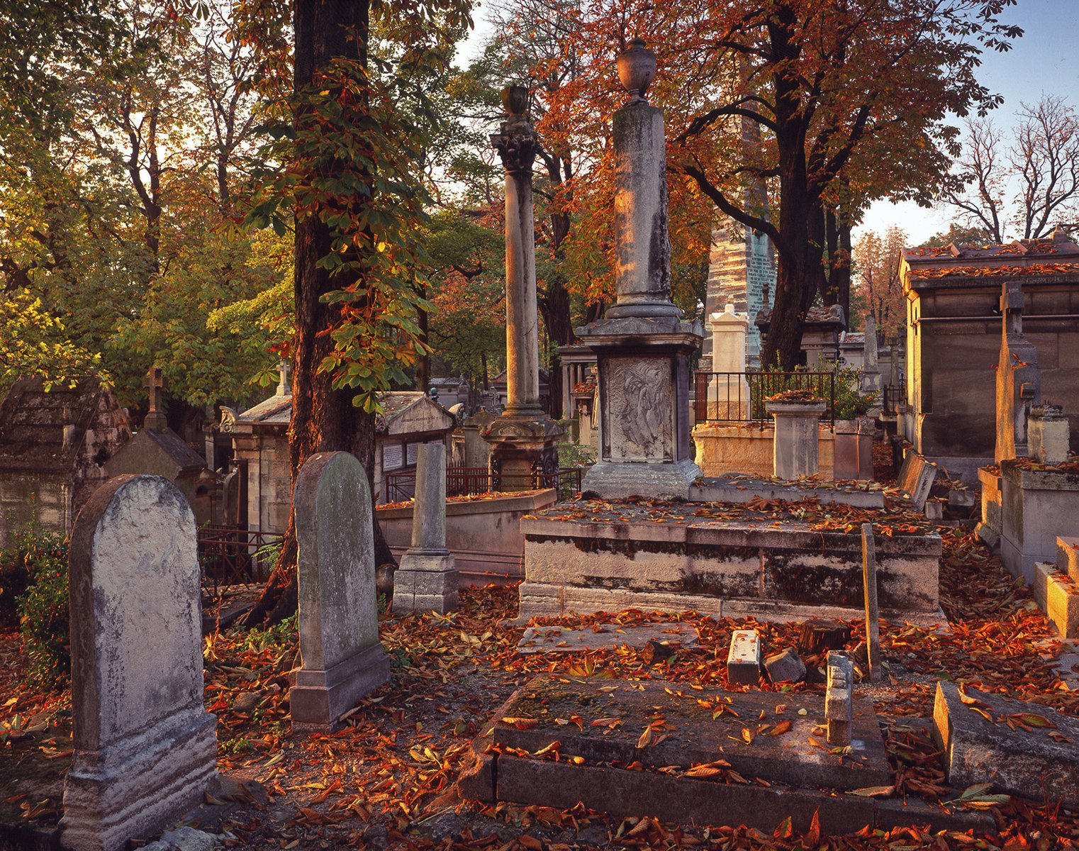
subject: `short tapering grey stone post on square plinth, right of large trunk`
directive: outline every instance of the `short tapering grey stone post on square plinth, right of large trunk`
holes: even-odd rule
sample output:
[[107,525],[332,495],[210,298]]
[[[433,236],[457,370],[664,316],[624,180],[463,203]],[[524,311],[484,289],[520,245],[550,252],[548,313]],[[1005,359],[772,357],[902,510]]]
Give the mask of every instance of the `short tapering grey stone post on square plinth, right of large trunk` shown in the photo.
[[394,613],[456,607],[457,570],[446,549],[446,447],[425,443],[416,457],[412,545],[394,573]]

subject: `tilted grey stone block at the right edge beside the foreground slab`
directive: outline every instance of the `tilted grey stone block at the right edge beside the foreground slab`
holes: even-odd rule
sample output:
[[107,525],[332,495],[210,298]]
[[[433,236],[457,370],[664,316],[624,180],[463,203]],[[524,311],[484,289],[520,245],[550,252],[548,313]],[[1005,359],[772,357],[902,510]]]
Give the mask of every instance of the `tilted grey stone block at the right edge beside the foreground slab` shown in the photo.
[[[944,751],[948,782],[956,788],[992,783],[1050,808],[1079,809],[1079,718],[1035,703],[937,684],[934,737]],[[982,713],[986,713],[986,718]],[[1014,727],[1009,727],[1011,720]],[[1025,729],[1024,729],[1025,728]]]

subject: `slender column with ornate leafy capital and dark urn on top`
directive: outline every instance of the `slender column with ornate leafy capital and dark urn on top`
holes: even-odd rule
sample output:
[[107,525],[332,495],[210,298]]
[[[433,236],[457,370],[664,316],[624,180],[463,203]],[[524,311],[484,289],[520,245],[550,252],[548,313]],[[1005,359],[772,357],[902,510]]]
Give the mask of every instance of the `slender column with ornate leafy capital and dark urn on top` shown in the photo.
[[491,144],[506,170],[506,407],[483,432],[495,483],[511,487],[558,470],[562,428],[540,404],[540,321],[536,313],[532,161],[538,141],[527,116],[523,85],[502,90],[507,118]]

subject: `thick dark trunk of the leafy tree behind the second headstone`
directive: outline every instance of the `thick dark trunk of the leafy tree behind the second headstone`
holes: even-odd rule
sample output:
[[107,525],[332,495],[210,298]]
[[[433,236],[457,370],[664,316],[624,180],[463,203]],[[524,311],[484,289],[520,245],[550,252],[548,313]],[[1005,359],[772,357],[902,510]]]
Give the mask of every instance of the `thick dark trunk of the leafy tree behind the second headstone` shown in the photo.
[[[292,9],[296,26],[295,87],[302,91],[315,79],[319,68],[334,56],[352,55],[366,65],[367,2],[296,0]],[[350,39],[349,31],[358,35]],[[292,420],[289,426],[289,460],[292,486],[303,462],[315,452],[343,450],[356,456],[370,482],[374,471],[374,415],[352,404],[354,391],[333,390],[332,375],[319,373],[318,365],[329,354],[332,340],[322,334],[340,319],[340,311],[325,305],[320,297],[344,285],[330,281],[318,260],[330,252],[330,229],[317,216],[296,222],[296,338],[292,348]],[[375,564],[393,562],[393,555],[374,524]],[[296,515],[289,517],[282,552],[274,565],[262,596],[244,620],[251,626],[271,622],[296,610]]]

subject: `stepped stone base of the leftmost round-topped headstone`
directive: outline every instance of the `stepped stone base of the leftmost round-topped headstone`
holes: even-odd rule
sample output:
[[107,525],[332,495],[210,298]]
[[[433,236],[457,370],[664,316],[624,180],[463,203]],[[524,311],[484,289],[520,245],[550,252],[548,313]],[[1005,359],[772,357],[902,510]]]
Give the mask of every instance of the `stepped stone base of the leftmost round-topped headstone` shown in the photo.
[[64,847],[115,851],[160,833],[217,791],[216,765],[217,717],[202,707],[77,752],[64,786]]

